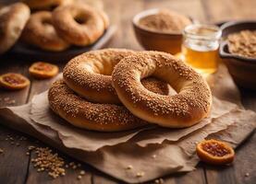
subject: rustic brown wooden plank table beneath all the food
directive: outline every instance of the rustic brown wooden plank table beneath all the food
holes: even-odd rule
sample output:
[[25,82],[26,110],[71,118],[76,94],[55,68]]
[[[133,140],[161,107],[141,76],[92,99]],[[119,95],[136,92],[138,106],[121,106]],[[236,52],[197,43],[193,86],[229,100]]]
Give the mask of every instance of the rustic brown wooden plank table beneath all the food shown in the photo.
[[[6,2],[9,1],[6,0]],[[171,8],[208,23],[256,18],[255,0],[104,0],[104,7],[112,23],[118,26],[116,35],[108,47],[134,50],[142,48],[135,39],[131,18],[143,9]],[[0,60],[0,74],[16,72],[29,76],[30,63],[19,59],[0,58]],[[60,63],[59,66],[62,68],[64,64]],[[1,106],[25,104],[33,95],[43,92],[51,84],[49,80],[30,78],[30,81],[30,87],[21,91],[1,90]],[[256,93],[241,89],[241,94],[244,106],[256,111]],[[11,135],[14,141],[6,141],[7,135]],[[20,136],[24,135],[0,126],[0,148],[4,150],[4,154],[0,155],[0,183],[120,183],[115,178],[110,178],[87,165],[82,166],[86,170],[86,175],[80,180],[77,179],[78,171],[74,170],[68,170],[66,177],[56,179],[49,178],[45,173],[38,173],[32,167],[31,155],[26,155],[26,152],[30,144],[46,145],[37,143],[31,137],[26,141],[19,141]],[[254,133],[238,148],[236,160],[232,166],[210,167],[199,164],[193,172],[164,178],[165,183],[256,183],[255,143],[256,134]],[[67,159],[72,160],[68,156]]]

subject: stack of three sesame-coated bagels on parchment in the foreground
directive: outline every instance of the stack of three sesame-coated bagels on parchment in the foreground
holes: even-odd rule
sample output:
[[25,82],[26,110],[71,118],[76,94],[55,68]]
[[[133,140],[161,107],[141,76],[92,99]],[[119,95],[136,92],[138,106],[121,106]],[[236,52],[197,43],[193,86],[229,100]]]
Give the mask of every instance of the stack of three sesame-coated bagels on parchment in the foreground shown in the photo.
[[[177,93],[170,95],[170,86]],[[201,75],[165,52],[105,49],[69,61],[49,89],[50,108],[87,130],[147,124],[184,128],[207,117],[212,94]]]

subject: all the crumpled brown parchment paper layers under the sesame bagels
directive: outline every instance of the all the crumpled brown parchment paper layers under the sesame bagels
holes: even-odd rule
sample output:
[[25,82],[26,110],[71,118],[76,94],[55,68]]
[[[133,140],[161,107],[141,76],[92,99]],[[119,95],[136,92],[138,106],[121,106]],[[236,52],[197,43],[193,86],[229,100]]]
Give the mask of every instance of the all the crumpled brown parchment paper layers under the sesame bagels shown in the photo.
[[[0,109],[0,116],[6,120],[1,122],[112,177],[129,183],[148,181],[194,169],[199,161],[195,144],[207,136],[236,147],[255,129],[256,113],[242,109],[238,88],[226,67],[221,65],[219,72],[208,77],[208,81],[214,97],[211,116],[188,129],[150,126],[114,135],[91,132],[84,136],[87,131],[78,130],[51,114],[46,93],[34,97],[28,105]],[[133,168],[126,169],[129,165]],[[138,178],[138,173],[143,176]]]

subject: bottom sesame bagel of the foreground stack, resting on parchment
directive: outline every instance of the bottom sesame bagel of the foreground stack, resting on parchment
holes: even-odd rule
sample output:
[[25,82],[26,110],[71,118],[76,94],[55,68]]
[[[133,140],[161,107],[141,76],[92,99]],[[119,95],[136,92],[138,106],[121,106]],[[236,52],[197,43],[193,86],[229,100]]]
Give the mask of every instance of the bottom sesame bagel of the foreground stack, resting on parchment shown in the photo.
[[100,132],[118,132],[146,124],[133,116],[124,106],[91,103],[80,98],[63,80],[49,89],[50,108],[69,123],[83,129]]

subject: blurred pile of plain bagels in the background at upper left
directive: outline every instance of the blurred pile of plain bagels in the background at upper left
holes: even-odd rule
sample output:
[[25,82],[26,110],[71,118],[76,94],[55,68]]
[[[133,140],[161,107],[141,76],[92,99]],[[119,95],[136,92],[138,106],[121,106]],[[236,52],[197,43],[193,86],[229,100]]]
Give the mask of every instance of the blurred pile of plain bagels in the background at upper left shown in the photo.
[[[0,9],[0,54],[20,38],[36,48],[61,52],[87,46],[109,25],[102,9],[75,0],[24,0]],[[32,11],[32,14],[30,14]]]

